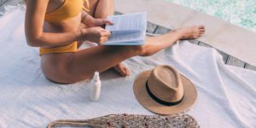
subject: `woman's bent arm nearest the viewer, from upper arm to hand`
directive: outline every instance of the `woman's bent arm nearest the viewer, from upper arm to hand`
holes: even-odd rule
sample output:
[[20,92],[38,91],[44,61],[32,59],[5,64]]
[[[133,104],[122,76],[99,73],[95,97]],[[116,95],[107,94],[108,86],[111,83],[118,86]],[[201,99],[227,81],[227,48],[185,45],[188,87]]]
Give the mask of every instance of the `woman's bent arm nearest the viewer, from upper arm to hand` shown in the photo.
[[110,35],[100,27],[77,32],[44,32],[44,15],[49,0],[26,0],[25,32],[27,44],[33,47],[49,47],[70,44],[78,40],[102,43]]

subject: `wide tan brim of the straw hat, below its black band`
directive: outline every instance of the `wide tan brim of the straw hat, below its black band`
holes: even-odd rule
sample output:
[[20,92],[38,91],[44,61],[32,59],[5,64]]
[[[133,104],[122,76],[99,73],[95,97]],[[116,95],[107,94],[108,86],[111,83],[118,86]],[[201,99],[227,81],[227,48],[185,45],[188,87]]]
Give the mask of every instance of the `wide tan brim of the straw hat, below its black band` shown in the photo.
[[186,109],[189,109],[196,102],[197,91],[195,89],[195,85],[182,74],[180,75],[184,91],[183,101],[175,106],[165,106],[155,102],[154,99],[148,95],[146,90],[146,82],[151,72],[152,70],[148,70],[140,73],[133,84],[133,91],[137,101],[140,102],[144,108],[147,108],[153,113],[167,115],[173,113],[181,113]]

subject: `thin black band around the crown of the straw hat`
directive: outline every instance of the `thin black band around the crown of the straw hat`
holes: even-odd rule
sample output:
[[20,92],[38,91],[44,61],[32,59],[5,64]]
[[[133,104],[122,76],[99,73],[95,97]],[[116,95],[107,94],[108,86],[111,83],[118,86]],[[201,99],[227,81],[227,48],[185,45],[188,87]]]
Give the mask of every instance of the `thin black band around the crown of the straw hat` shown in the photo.
[[148,80],[147,80],[147,82],[146,82],[146,89],[147,89],[148,95],[149,95],[152,99],[154,99],[155,102],[158,102],[158,103],[160,103],[160,104],[162,104],[162,105],[174,106],[174,105],[177,105],[177,104],[179,104],[180,102],[183,101],[184,95],[183,95],[183,97],[182,97],[180,100],[178,100],[177,102],[165,102],[165,101],[159,99],[158,97],[154,96],[154,94],[149,90],[149,88],[148,88]]

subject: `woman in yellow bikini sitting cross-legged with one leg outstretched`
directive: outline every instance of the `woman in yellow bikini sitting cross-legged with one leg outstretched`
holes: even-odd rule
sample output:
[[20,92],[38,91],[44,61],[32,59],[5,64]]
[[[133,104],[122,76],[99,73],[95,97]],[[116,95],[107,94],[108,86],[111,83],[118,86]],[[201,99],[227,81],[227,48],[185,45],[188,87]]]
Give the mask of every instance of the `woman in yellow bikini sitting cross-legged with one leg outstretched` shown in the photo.
[[[101,26],[112,24],[108,15],[113,15],[113,0],[26,0],[27,44],[40,47],[46,78],[74,83],[111,67],[126,76],[130,71],[121,61],[153,55],[179,39],[199,38],[205,32],[204,26],[190,26],[147,38],[142,46],[104,46],[110,32]],[[84,41],[99,45],[77,50]]]

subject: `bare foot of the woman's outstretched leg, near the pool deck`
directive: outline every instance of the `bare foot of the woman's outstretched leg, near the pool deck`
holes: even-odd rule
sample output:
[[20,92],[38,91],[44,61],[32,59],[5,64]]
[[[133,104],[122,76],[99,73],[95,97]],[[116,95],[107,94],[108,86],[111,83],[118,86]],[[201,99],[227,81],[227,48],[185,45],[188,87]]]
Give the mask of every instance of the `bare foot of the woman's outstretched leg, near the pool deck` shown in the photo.
[[180,39],[195,39],[201,37],[201,35],[205,32],[205,26],[189,26],[178,28],[175,30],[178,34],[180,34]]

